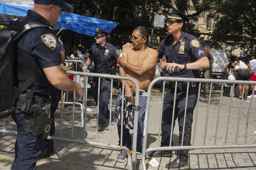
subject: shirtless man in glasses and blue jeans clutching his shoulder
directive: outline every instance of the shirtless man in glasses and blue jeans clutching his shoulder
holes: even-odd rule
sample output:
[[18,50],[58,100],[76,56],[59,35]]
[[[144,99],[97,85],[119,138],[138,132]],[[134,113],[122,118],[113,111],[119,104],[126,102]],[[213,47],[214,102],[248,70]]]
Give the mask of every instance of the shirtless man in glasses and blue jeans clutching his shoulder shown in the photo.
[[[120,76],[128,76],[137,81],[141,90],[148,90],[148,85],[151,82],[150,78],[154,73],[156,60],[158,57],[158,53],[156,50],[152,48],[148,48],[146,46],[146,42],[148,41],[148,30],[143,26],[138,26],[133,30],[132,36],[130,39],[132,41],[132,48],[124,48],[122,53],[126,56],[126,61],[124,60],[124,55],[122,57],[118,57],[117,63],[122,64],[119,67],[119,75]],[[132,82],[124,80],[124,89],[125,89],[125,99],[128,101],[134,100],[135,94],[135,86]],[[119,105],[122,94],[118,95],[116,101],[116,107]],[[142,137],[143,137],[143,121],[145,117],[145,109],[146,109],[147,98],[143,97],[140,94],[139,106],[141,107],[138,112],[138,136],[137,136],[137,152],[141,152],[142,150]],[[123,127],[123,142],[121,141],[121,125],[117,126],[118,136],[119,136],[119,145],[125,146],[130,149],[132,138],[129,132],[129,129],[125,129]],[[127,160],[126,151],[121,150],[119,156],[117,157],[118,162],[125,162]]]

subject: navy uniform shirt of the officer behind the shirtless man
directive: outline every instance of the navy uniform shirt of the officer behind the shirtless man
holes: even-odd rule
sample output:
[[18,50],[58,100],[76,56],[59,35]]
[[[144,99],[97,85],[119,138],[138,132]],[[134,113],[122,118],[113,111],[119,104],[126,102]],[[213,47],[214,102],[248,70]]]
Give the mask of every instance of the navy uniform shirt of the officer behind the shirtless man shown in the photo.
[[[94,62],[95,72],[108,74],[113,66],[113,60],[117,61],[119,54],[118,49],[108,42],[103,47],[94,43],[90,49],[89,58]],[[101,58],[100,60],[98,59],[99,57]]]

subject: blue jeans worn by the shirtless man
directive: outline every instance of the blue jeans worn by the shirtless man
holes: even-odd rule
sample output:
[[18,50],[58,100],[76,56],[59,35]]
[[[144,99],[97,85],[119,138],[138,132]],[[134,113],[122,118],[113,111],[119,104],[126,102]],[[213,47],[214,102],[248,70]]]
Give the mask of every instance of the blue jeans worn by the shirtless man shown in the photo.
[[[119,94],[116,100],[116,108],[118,107],[120,100],[121,100],[122,94]],[[142,94],[140,94],[139,99],[139,106],[141,107],[140,111],[138,112],[138,133],[137,133],[137,152],[142,151],[142,141],[143,141],[143,129],[144,129],[144,118],[145,118],[145,110],[146,110],[146,104],[147,104],[147,97],[143,97]],[[116,110],[116,109],[115,109]],[[135,128],[135,127],[134,127]],[[118,130],[118,136],[119,136],[119,145],[121,145],[121,125],[117,125]],[[129,129],[125,129],[123,126],[123,141],[122,146],[127,147],[130,149],[132,144],[132,137],[129,132]]]

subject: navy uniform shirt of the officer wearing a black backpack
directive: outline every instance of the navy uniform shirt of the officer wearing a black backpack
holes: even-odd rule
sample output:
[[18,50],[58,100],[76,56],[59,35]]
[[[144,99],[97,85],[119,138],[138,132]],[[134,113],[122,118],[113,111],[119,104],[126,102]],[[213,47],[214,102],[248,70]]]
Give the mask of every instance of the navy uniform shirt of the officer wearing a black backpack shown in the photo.
[[[22,47],[39,61],[42,69],[60,65],[60,42],[58,41],[57,35],[50,29],[49,22],[40,14],[32,10],[28,10],[27,16],[20,18],[18,21],[21,23],[39,21],[44,25],[49,26],[49,28],[36,28],[29,31],[22,42]],[[36,95],[51,96],[54,92],[54,87],[49,86],[42,88],[32,84],[27,90],[32,90]]]

